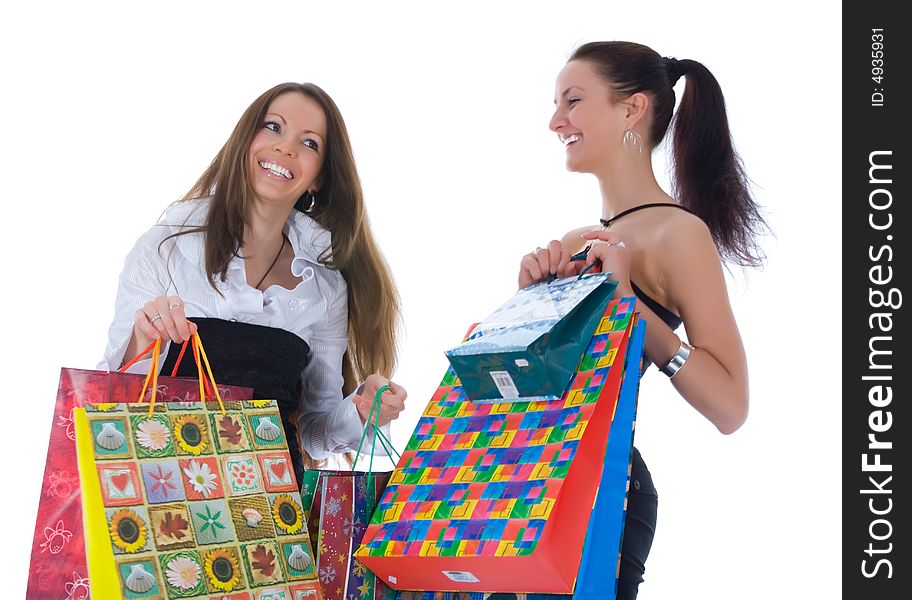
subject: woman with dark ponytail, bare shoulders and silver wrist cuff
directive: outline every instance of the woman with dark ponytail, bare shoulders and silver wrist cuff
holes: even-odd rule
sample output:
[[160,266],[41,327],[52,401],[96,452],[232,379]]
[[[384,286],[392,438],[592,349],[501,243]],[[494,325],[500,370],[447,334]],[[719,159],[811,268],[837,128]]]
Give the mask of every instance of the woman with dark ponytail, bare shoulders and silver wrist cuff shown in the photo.
[[[675,112],[680,78],[684,94]],[[734,151],[718,82],[697,61],[631,42],[593,42],[570,57],[555,93],[550,128],[566,147],[567,168],[598,178],[601,225],[524,256],[520,287],[600,262],[617,280],[617,296],[638,299],[646,366],[656,364],[720,432],[735,432],[748,413],[747,360],[722,263],[759,266],[756,238],[766,224]],[[669,127],[672,194],[652,165]],[[571,260],[583,251],[585,260]],[[686,342],[675,333],[682,323]],[[636,598],[643,581],[658,502],[635,448],[632,460],[617,591],[625,600]]]

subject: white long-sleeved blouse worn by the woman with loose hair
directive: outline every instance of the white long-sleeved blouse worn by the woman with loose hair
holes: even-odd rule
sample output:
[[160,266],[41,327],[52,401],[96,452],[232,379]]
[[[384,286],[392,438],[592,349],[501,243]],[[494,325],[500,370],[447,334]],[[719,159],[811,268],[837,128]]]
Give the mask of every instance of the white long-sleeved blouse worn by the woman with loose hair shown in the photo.
[[[293,290],[271,285],[266,291],[247,283],[244,261],[235,257],[225,281],[216,277],[217,294],[205,270],[203,234],[169,235],[204,223],[208,200],[174,204],[147,231],[124,261],[117,288],[114,322],[99,369],[118,368],[133,331],[133,316],[156,296],[178,296],[189,318],[210,317],[284,329],[298,335],[311,349],[301,373],[298,435],[304,450],[316,460],[357,448],[363,429],[351,396],[342,398],[342,355],[348,347],[348,299],[339,271],[318,257],[331,247],[329,231],[298,210],[292,210],[285,235],[294,249],[291,272],[301,282]],[[162,360],[170,342],[162,344]],[[130,372],[147,372],[149,360]],[[389,435],[388,426],[386,435]]]

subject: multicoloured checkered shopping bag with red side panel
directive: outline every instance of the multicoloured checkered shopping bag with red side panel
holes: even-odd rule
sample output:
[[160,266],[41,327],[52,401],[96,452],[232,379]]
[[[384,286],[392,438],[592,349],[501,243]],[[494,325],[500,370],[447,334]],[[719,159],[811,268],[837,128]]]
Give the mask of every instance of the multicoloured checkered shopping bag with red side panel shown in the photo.
[[356,552],[367,568],[402,590],[572,593],[609,432],[632,427],[615,410],[635,302],[608,304],[560,400],[477,404],[448,372]]

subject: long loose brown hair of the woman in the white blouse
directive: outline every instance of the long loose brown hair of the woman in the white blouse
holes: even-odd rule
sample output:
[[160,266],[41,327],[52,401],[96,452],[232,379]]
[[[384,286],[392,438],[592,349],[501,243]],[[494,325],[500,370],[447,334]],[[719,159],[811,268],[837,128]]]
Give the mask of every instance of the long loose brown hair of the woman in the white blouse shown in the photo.
[[[297,92],[317,102],[326,116],[326,153],[318,199],[308,214],[332,234],[332,252],[319,257],[338,269],[348,284],[348,352],[343,360],[344,393],[371,373],[391,377],[396,368],[401,325],[399,294],[368,222],[361,179],[342,114],[332,98],[312,83],[283,83],[247,107],[212,164],[181,201],[211,197],[203,226],[206,273],[215,288],[237,256],[255,199],[247,173],[247,152],[278,96]],[[307,207],[299,203],[296,210]]]

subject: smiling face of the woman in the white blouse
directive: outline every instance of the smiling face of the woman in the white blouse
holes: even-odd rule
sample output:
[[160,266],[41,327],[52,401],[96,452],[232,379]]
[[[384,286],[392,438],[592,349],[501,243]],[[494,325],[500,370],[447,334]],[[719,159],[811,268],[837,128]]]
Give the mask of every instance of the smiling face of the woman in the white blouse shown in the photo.
[[261,202],[294,206],[319,188],[326,147],[326,115],[298,92],[277,96],[266,110],[250,148],[247,172]]

